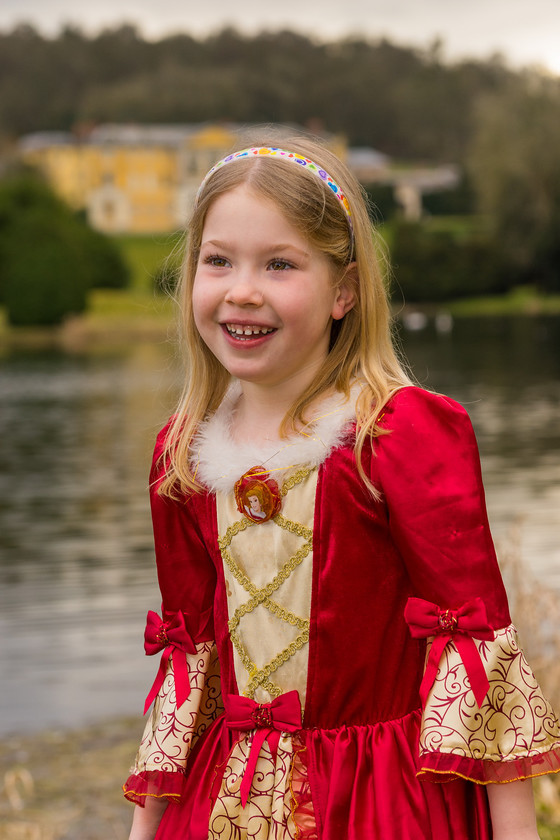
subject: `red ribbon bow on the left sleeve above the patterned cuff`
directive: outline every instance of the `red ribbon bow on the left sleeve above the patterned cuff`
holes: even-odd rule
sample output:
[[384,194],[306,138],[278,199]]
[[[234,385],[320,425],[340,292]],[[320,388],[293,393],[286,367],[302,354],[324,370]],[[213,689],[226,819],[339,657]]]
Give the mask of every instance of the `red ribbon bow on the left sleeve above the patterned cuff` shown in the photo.
[[146,697],[144,714],[152,705],[163,685],[171,653],[173,653],[177,707],[181,708],[191,690],[187,653],[196,653],[196,646],[185,626],[183,613],[176,612],[170,619],[164,621],[157,613],[150,610],[144,632],[144,650],[147,656],[153,656],[160,650],[163,651],[154,684]]

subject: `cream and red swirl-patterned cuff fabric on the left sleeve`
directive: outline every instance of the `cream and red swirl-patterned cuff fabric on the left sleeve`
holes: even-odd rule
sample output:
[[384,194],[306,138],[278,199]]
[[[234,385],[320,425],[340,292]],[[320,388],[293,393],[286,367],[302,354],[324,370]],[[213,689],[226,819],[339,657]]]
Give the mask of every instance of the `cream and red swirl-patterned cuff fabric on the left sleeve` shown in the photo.
[[132,772],[184,772],[197,739],[223,711],[218,655],[213,642],[201,642],[187,654],[191,692],[177,708],[173,654],[165,680],[146,723]]

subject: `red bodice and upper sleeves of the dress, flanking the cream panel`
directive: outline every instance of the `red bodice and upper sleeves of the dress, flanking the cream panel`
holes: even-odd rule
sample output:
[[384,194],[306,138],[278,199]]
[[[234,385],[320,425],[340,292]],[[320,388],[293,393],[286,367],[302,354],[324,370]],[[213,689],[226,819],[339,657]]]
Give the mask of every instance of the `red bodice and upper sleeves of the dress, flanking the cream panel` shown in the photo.
[[[450,608],[483,597],[493,627],[510,623],[468,415],[405,388],[381,424],[387,433],[363,453],[378,499],[351,441],[319,469],[308,727],[376,723],[418,707],[423,642],[404,620],[410,595]],[[152,505],[164,609],[182,609],[197,641],[215,638],[223,691],[236,693],[215,496],[174,502],[153,492]]]

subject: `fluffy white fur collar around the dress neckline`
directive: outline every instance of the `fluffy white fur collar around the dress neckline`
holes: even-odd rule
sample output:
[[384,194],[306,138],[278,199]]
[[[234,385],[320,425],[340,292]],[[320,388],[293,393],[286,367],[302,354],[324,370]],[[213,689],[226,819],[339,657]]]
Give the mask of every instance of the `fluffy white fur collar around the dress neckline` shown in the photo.
[[348,439],[349,423],[356,417],[357,392],[353,389],[348,401],[336,394],[322,403],[319,416],[307,427],[309,437],[294,434],[282,441],[237,443],[231,436],[231,420],[239,394],[236,383],[217,411],[201,423],[193,440],[197,480],[212,492],[231,492],[235,482],[255,466],[275,473],[303,464],[318,467]]

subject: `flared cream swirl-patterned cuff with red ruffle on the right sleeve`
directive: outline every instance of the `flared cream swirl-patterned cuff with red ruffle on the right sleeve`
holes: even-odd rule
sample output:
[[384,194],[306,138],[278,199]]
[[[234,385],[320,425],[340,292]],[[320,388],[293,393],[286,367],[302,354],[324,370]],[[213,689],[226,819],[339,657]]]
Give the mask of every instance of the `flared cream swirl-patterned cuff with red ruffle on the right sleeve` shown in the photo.
[[560,725],[515,628],[475,643],[490,690],[479,708],[457,648],[449,643],[423,713],[420,774],[451,773],[485,783],[560,769]]

